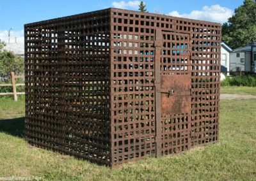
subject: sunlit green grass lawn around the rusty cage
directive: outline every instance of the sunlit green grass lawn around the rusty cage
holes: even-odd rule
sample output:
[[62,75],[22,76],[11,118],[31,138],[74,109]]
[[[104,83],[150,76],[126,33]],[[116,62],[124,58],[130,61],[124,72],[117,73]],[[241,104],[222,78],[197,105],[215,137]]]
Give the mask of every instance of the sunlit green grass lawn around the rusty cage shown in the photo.
[[256,180],[256,99],[221,100],[219,143],[112,170],[32,147],[23,136],[24,98],[0,99],[0,180]]

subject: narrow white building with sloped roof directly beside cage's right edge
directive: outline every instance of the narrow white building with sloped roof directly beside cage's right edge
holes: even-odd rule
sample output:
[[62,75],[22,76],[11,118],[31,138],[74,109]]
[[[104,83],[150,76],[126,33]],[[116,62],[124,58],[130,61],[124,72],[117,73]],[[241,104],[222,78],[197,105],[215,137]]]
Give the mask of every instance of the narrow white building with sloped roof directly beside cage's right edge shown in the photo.
[[228,47],[226,43],[221,42],[221,72],[230,71],[230,52],[232,48]]

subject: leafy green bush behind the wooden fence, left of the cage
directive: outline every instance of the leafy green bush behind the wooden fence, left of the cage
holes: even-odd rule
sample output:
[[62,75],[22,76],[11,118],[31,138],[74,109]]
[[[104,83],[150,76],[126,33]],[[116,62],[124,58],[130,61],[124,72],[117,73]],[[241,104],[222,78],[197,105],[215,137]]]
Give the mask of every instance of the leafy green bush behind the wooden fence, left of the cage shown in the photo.
[[10,73],[24,74],[24,59],[4,50],[6,44],[0,40],[0,82],[10,81]]

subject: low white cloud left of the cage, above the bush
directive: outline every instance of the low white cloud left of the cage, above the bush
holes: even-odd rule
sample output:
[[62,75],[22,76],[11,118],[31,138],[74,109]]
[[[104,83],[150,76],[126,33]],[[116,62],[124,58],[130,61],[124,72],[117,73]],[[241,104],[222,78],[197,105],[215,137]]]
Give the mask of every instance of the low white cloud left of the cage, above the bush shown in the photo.
[[[0,40],[5,43],[9,42],[8,30],[0,30]],[[24,30],[20,31],[10,31],[10,43],[19,43],[24,46]]]

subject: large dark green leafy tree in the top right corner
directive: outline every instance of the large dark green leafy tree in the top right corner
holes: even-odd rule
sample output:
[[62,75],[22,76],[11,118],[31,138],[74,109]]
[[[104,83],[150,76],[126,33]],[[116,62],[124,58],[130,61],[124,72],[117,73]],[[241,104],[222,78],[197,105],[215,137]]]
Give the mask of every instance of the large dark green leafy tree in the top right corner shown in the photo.
[[222,40],[231,48],[243,47],[256,42],[256,3],[244,0],[228,23],[222,25]]

